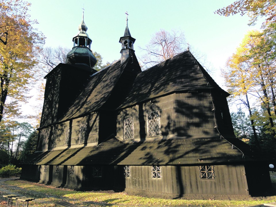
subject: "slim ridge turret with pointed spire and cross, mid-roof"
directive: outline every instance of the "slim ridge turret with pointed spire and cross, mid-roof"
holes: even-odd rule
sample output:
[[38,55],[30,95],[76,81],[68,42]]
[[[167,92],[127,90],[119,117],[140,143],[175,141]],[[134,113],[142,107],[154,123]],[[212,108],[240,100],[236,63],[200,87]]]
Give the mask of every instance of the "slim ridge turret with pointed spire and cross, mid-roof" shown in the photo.
[[[127,14],[127,12],[125,13],[127,16],[129,14]],[[126,21],[128,21],[128,18],[126,18]],[[132,56],[132,53],[134,53],[135,51],[133,50],[133,44],[135,42],[136,39],[134,39],[133,37],[131,37],[131,34],[129,32],[129,27],[127,24],[127,27],[124,31],[124,36],[120,37],[119,43],[122,44],[122,49],[120,51],[121,53],[121,63],[123,63],[124,61],[127,60],[128,57]]]

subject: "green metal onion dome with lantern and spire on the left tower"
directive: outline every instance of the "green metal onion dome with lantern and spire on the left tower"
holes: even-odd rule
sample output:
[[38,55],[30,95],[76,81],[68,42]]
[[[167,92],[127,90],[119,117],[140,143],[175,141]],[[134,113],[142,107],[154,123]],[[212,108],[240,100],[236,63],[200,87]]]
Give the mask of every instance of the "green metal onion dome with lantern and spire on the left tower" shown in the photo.
[[[78,26],[80,33],[73,37],[74,46],[72,50],[67,54],[66,63],[67,64],[76,64],[76,66],[84,66],[85,70],[92,70],[92,68],[97,63],[96,57],[91,51],[91,42],[87,31],[87,26],[84,23],[84,11],[83,11],[83,20]],[[88,66],[88,67],[87,67]]]

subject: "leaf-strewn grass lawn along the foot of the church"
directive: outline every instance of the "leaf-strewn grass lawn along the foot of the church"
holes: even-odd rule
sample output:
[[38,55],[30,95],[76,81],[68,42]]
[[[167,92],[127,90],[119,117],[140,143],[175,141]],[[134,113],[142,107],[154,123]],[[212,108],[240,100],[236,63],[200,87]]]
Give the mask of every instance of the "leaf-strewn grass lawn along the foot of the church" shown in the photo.
[[[276,173],[272,176],[273,184],[276,183]],[[162,205],[197,205],[197,206],[257,206],[262,205],[267,202],[276,202],[276,196],[270,196],[266,198],[255,198],[250,200],[169,200],[160,198],[145,198],[141,196],[131,196],[126,193],[114,193],[113,191],[74,191],[66,188],[55,188],[50,185],[43,185],[34,182],[15,180],[6,181],[8,185],[17,186],[23,188],[25,191],[16,191],[18,194],[28,194],[26,196],[31,196],[37,200],[45,201],[58,201],[66,200],[71,203],[78,204],[80,206],[162,206]],[[10,189],[11,190],[11,189]],[[1,195],[0,195],[1,196]],[[48,197],[50,196],[50,197]],[[52,196],[52,197],[51,197]],[[57,196],[57,197],[56,197]],[[1,196],[2,197],[2,196]],[[48,198],[45,198],[48,197]],[[62,198],[58,198],[62,197]],[[70,199],[76,199],[72,201]],[[46,207],[54,206],[53,204],[38,204],[30,202],[31,206]],[[0,202],[0,206],[2,206]],[[6,204],[5,204],[6,205]]]

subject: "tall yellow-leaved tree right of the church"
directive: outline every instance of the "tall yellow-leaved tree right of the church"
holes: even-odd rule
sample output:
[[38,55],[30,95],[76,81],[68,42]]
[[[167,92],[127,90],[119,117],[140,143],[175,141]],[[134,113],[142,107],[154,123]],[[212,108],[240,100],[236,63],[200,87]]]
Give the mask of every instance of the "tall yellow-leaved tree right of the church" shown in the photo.
[[271,38],[265,32],[248,32],[236,53],[227,61],[227,70],[223,71],[234,102],[248,109],[258,148],[260,144],[255,129],[258,124],[262,124],[265,133],[274,140],[276,138],[276,60],[269,58],[273,50],[268,49],[267,41]]

